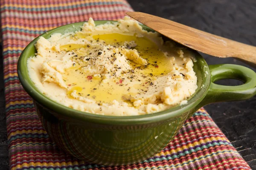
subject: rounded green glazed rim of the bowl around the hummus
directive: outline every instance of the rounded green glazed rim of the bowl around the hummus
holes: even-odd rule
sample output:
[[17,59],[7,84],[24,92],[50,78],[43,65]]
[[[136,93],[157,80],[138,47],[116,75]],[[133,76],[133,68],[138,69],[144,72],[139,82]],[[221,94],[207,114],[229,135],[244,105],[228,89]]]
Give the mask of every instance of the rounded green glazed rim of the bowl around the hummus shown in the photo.
[[[151,122],[162,122],[162,121],[166,121],[167,119],[177,118],[181,116],[183,113],[194,112],[195,108],[197,108],[197,105],[206,96],[209,90],[209,85],[210,85],[209,74],[201,74],[202,76],[201,86],[197,88],[197,91],[195,92],[195,94],[193,94],[188,99],[188,102],[185,105],[177,105],[175,107],[172,107],[157,113],[150,113],[150,114],[144,114],[144,115],[138,115],[138,116],[106,116],[106,115],[87,113],[84,111],[78,111],[78,110],[69,108],[67,106],[61,105],[60,103],[55,102],[54,100],[45,96],[39,91],[38,88],[35,87],[34,83],[28,76],[27,59],[31,56],[26,55],[27,51],[29,51],[30,48],[32,48],[32,46],[35,48],[34,44],[41,36],[46,36],[46,35],[50,36],[51,34],[56,33],[65,27],[68,27],[68,28],[72,27],[74,29],[76,28],[78,30],[79,29],[81,30],[82,24],[86,22],[87,21],[71,23],[71,24],[59,26],[50,31],[44,32],[43,34],[39,35],[34,40],[32,40],[32,42],[30,42],[20,54],[20,57],[17,63],[18,77],[25,91],[29,94],[29,96],[32,97],[34,104],[35,102],[37,102],[38,104],[47,108],[47,110],[49,110],[51,113],[55,115],[57,113],[58,117],[65,116],[65,117],[68,117],[69,119],[71,118],[79,121],[94,122],[94,123],[108,124],[108,125],[137,125],[137,124],[146,124]],[[107,22],[117,22],[117,21],[112,21],[112,20],[96,20],[95,21],[96,25],[104,24]],[[147,31],[154,31],[151,28],[148,28],[147,26],[144,26],[142,24],[140,25],[143,27],[143,29]],[[197,68],[197,69],[201,69],[201,73],[205,73],[205,72],[210,73],[209,67],[207,65],[207,62],[204,60],[204,58],[197,51],[194,51],[192,49],[190,51],[192,51],[195,54],[195,57],[197,59],[197,62],[194,62],[194,67],[195,65],[198,65],[200,68]],[[196,72],[196,74],[198,73]],[[186,116],[188,115],[189,114],[186,114]]]

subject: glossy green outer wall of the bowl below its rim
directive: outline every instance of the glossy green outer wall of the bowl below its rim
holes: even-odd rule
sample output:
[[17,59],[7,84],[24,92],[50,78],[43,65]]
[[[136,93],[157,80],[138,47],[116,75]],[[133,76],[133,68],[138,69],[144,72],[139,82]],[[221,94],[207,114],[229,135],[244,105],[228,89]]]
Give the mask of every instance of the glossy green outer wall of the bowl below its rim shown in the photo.
[[142,125],[103,125],[57,117],[34,101],[51,139],[62,149],[96,164],[123,165],[157,154],[174,138],[188,114]]

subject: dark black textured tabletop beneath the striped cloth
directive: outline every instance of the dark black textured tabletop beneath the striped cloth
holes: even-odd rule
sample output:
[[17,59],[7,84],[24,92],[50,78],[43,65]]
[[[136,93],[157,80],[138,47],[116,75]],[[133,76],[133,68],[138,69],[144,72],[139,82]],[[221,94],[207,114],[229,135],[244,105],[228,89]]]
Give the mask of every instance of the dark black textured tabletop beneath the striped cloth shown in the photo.
[[[135,11],[154,14],[256,46],[255,0],[128,0],[128,2]],[[204,54],[203,56],[208,64],[245,65],[233,58],[218,59]],[[256,71],[255,68],[252,69]],[[224,80],[219,83],[241,84],[234,80]],[[0,170],[8,169],[4,108],[3,57],[0,56]],[[241,102],[211,104],[205,108],[250,167],[256,169],[256,97]]]

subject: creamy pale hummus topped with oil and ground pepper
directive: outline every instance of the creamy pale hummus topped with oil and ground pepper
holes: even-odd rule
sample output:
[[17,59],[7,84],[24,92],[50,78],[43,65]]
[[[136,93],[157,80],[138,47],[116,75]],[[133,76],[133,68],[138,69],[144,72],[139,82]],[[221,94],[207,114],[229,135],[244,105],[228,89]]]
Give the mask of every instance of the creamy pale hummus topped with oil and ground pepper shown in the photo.
[[125,17],[81,31],[40,37],[29,77],[67,107],[112,116],[155,113],[186,104],[195,93],[195,57]]

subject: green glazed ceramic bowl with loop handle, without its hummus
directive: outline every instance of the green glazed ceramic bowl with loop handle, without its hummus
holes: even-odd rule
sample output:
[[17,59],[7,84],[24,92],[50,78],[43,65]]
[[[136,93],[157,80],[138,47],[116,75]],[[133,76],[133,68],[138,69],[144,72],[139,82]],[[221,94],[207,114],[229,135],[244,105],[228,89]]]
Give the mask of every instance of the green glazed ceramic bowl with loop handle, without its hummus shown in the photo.
[[[96,21],[96,25],[107,21]],[[114,22],[114,21],[111,21]],[[84,22],[55,28],[42,34],[78,31]],[[150,28],[143,26],[147,31]],[[183,122],[212,102],[245,100],[256,94],[256,73],[239,65],[207,65],[194,51],[198,89],[188,103],[143,116],[102,116],[67,108],[44,96],[29,78],[27,59],[36,53],[33,40],[18,61],[18,76],[32,97],[36,111],[51,139],[71,155],[91,163],[123,165],[143,161],[159,153],[174,138]],[[217,85],[219,79],[239,79],[239,86]]]

